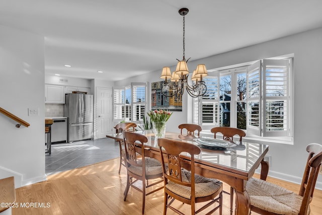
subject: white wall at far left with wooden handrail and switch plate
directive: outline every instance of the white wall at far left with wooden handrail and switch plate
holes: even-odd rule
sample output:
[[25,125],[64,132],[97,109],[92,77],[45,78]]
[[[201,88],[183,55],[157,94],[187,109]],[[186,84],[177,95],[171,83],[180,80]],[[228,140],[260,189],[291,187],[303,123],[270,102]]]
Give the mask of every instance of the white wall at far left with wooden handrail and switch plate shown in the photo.
[[30,123],[16,128],[0,114],[0,178],[15,176],[16,187],[46,180],[44,37],[0,25],[0,77],[0,107]]

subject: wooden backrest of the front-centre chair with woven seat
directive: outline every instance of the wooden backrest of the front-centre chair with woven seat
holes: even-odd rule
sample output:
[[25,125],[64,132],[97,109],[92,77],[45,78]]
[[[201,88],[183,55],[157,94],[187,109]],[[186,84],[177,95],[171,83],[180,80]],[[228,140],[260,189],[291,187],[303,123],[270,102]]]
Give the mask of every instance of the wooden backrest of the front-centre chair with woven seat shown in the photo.
[[[173,181],[174,183],[185,185],[191,187],[191,199],[195,198],[195,155],[199,155],[201,150],[199,147],[188,142],[182,142],[177,140],[158,138],[157,144],[160,149],[160,154],[162,157],[162,166],[165,177],[165,183],[168,183],[168,180]],[[189,166],[191,171],[191,182],[183,180],[181,174],[181,165],[180,153],[187,152],[191,156],[191,166]],[[168,170],[165,167],[165,158],[168,160]],[[187,166],[185,166],[185,169]],[[188,169],[189,170],[189,169]]]

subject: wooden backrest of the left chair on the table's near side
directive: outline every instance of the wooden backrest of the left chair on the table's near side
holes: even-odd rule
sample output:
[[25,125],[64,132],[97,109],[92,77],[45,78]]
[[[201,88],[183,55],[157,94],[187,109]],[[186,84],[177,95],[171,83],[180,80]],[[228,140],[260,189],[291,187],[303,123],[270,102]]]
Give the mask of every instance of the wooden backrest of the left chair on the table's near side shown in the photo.
[[[124,149],[125,149],[125,157],[126,157],[126,167],[130,165],[136,167],[142,167],[145,173],[145,162],[144,162],[144,142],[147,142],[147,137],[134,132],[123,131],[124,137]],[[142,162],[137,162],[136,159],[136,152],[137,152],[137,145],[142,145],[139,154],[141,154],[140,158]]]

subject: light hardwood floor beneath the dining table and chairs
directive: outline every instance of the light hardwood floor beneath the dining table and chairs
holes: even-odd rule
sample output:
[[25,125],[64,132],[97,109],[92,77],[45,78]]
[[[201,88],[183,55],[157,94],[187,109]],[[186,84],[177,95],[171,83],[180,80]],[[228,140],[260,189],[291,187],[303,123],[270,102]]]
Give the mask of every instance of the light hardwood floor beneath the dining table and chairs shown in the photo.
[[[39,202],[33,207],[13,208],[12,214],[141,214],[142,197],[137,190],[130,188],[126,201],[123,192],[126,171],[122,167],[118,174],[119,159],[91,166],[61,172],[48,176],[48,180],[16,189],[16,202],[21,205]],[[299,185],[268,178],[268,181],[298,192]],[[229,186],[224,184],[224,190]],[[229,214],[229,195],[223,194],[223,214]],[[145,214],[163,214],[163,190],[146,197]],[[311,215],[321,214],[322,191],[315,190],[311,202]],[[26,204],[27,203],[27,204]],[[49,207],[43,207],[43,205]],[[177,205],[190,214],[190,205],[177,202]],[[167,214],[175,214],[168,209]],[[216,211],[214,214],[219,214]],[[252,213],[256,214],[256,213]]]

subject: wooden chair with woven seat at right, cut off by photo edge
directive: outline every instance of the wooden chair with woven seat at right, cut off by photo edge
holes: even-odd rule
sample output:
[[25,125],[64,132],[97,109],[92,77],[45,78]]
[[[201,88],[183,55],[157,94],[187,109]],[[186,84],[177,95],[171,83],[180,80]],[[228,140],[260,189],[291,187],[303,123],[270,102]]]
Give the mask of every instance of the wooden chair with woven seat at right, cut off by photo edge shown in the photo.
[[309,214],[316,178],[322,163],[322,146],[309,144],[309,153],[299,193],[267,181],[251,178],[246,184],[251,210],[260,214]]

